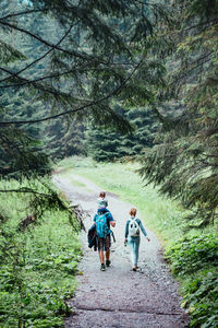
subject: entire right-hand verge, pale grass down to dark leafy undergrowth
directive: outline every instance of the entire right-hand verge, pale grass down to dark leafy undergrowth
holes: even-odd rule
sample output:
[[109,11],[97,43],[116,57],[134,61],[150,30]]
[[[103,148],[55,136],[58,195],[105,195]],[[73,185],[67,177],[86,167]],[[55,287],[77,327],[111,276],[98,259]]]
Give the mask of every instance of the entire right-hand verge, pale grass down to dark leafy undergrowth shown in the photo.
[[218,237],[214,227],[184,234],[186,213],[179,203],[160,197],[153,186],[145,186],[135,173],[137,164],[98,164],[72,157],[60,165],[69,176],[71,173],[84,176],[140,210],[145,226],[165,245],[166,258],[181,284],[182,306],[189,309],[191,327],[217,327]]

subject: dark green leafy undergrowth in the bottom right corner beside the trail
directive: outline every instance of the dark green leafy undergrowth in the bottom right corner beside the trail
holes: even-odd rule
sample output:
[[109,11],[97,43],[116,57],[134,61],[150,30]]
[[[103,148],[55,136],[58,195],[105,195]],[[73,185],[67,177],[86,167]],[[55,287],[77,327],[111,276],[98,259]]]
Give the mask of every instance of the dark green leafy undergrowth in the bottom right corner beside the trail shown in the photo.
[[[218,323],[218,235],[184,237],[168,248],[166,258],[183,282],[183,306],[191,327],[216,328]],[[185,283],[184,283],[185,281]]]

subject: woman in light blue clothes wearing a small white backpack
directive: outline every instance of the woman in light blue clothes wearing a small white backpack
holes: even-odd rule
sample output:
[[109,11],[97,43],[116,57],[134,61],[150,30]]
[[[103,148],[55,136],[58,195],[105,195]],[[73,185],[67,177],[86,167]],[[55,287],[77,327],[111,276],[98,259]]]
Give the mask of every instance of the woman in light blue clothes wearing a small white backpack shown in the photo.
[[150,239],[147,237],[147,233],[142,224],[142,221],[136,218],[137,210],[135,208],[132,208],[130,210],[130,219],[126,221],[125,225],[125,242],[131,247],[131,260],[133,265],[133,271],[137,270],[137,260],[138,260],[138,250],[140,250],[140,231],[142,230],[142,233],[145,235],[147,241]]

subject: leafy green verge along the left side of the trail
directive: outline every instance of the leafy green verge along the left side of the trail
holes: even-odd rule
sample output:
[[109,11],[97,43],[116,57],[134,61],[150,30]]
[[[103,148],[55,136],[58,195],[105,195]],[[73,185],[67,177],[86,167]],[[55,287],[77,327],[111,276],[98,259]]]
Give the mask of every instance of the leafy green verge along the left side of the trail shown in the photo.
[[[17,187],[15,180],[1,184]],[[40,224],[21,232],[19,223],[29,214],[26,204],[25,195],[1,194],[0,327],[63,327],[81,245],[62,211],[47,211]]]

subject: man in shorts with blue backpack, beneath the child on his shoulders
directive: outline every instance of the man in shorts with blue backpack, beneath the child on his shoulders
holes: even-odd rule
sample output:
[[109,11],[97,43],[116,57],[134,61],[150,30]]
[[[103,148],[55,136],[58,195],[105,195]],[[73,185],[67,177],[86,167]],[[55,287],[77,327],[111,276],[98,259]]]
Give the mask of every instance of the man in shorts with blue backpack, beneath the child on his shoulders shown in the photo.
[[[110,266],[110,246],[111,246],[111,226],[116,226],[116,221],[112,218],[110,212],[100,212],[94,218],[95,226],[96,226],[96,236],[97,236],[97,247],[100,259],[100,270],[105,271],[106,266]],[[105,265],[105,254],[106,251],[106,265]]]

